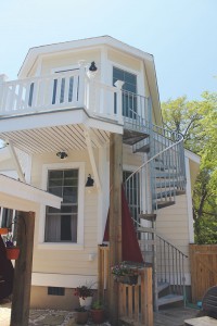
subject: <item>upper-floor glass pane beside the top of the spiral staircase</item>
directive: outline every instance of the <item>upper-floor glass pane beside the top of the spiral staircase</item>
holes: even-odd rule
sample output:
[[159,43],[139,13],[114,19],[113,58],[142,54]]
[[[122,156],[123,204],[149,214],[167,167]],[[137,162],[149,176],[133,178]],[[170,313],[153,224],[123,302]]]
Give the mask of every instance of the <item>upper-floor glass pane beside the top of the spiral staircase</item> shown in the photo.
[[[123,115],[136,118],[137,114],[137,76],[120,68],[113,67],[113,85],[122,80],[123,85]],[[115,98],[116,106],[116,98]]]

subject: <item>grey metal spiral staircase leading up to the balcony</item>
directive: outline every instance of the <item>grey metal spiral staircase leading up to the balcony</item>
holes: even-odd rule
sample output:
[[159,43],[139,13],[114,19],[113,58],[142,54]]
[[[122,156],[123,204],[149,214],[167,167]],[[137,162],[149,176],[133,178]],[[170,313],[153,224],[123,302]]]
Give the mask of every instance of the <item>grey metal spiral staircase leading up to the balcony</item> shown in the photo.
[[136,120],[131,126],[129,118],[125,121],[123,141],[135,153],[144,153],[144,163],[125,179],[125,191],[144,262],[153,267],[157,311],[184,298],[187,255],[156,234],[157,211],[175,204],[176,196],[186,192],[184,152],[180,135]]

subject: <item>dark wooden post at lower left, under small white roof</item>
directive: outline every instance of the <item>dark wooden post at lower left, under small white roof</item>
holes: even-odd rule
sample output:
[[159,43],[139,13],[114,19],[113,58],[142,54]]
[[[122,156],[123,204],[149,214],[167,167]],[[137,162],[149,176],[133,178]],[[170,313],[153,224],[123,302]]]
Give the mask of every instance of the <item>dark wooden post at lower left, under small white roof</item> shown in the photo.
[[17,212],[17,246],[20,258],[15,262],[11,310],[11,326],[28,326],[35,213]]

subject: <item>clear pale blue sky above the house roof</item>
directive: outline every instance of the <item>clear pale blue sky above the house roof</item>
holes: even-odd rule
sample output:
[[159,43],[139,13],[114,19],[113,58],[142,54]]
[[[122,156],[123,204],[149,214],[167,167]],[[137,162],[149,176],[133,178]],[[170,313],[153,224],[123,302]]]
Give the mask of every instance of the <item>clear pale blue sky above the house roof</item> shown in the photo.
[[161,101],[217,91],[217,0],[0,0],[0,73],[29,48],[110,35],[152,53]]

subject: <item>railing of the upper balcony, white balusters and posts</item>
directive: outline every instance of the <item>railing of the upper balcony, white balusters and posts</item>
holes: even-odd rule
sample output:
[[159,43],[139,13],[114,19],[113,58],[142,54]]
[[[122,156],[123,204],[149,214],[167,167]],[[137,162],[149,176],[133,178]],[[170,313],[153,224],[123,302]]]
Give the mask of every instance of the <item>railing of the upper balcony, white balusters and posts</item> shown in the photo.
[[[0,116],[14,116],[40,112],[82,108],[91,116],[108,118],[123,124],[128,120],[148,120],[148,100],[122,92],[117,87],[90,78],[80,70],[49,76],[4,82],[0,76]],[[137,99],[136,99],[137,97]],[[141,100],[142,99],[142,100]],[[126,113],[126,108],[128,113]],[[133,106],[135,105],[135,106]],[[137,114],[133,114],[136,112]],[[140,121],[140,124],[141,124]]]

